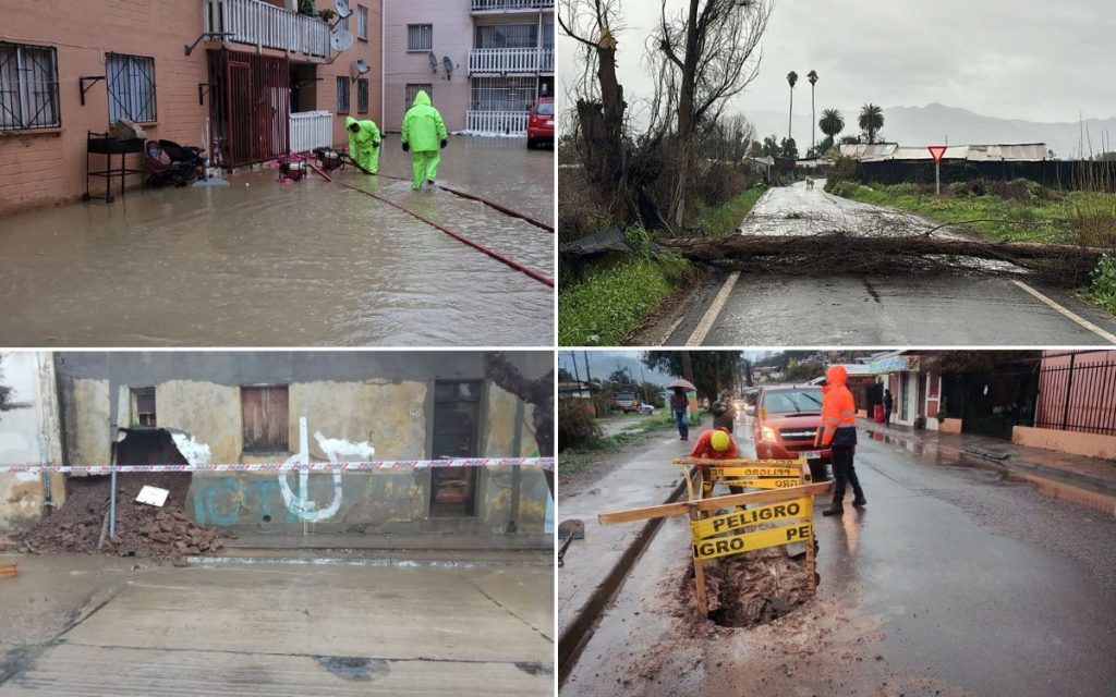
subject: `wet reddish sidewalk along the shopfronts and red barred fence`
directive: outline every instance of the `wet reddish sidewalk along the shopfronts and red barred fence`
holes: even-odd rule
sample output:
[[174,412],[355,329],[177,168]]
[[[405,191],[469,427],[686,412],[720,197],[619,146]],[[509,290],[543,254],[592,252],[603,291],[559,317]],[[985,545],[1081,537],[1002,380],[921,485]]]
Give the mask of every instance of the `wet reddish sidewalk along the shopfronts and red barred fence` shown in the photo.
[[910,426],[858,419],[857,427],[875,439],[931,448],[951,457],[981,461],[1043,493],[1116,515],[1116,463],[1017,445],[991,436],[922,430]]

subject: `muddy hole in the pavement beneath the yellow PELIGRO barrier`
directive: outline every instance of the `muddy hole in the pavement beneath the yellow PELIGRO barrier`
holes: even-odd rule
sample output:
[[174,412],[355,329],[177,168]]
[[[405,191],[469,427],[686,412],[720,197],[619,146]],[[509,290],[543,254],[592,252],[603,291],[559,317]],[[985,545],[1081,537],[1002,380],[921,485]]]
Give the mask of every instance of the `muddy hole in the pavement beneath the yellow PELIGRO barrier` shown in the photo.
[[[806,554],[792,559],[786,546],[754,550],[702,562],[709,619],[721,627],[766,625],[811,598]],[[683,577],[680,600],[692,607],[694,570]]]

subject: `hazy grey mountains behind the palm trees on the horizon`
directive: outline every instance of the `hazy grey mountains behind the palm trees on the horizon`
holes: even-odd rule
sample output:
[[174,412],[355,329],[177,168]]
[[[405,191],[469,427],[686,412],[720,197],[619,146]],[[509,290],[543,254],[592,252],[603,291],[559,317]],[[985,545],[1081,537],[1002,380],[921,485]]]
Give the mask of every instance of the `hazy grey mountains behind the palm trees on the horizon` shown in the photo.
[[[807,104],[809,107],[809,104]],[[821,118],[821,107],[818,107],[818,118]],[[787,113],[753,110],[745,112],[748,120],[756,127],[756,137],[776,134],[778,139],[787,135]],[[838,135],[856,135],[859,109],[841,109],[845,117],[845,129]],[[810,145],[810,114],[796,105],[793,134],[800,155],[806,154]],[[1046,143],[1062,159],[1076,158],[1083,151],[1083,134],[1091,137],[1091,147],[1085,139],[1086,156],[1099,154],[1101,149],[1116,151],[1116,117],[1089,118],[1081,123],[1045,124],[1022,119],[998,118],[984,116],[942,104],[929,104],[923,107],[885,107],[884,138],[899,145],[973,145],[973,144],[1008,144],[1008,143]],[[820,142],[825,135],[817,130]],[[1103,147],[1104,145],[1104,147]]]

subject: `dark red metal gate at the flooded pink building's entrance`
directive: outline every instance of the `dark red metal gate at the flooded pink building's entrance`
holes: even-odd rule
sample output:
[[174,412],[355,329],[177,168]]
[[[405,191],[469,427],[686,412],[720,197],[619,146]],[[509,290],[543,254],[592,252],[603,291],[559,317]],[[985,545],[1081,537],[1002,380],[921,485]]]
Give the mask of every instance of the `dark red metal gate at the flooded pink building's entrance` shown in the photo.
[[238,167],[286,154],[290,124],[289,62],[227,49],[209,51],[214,164]]

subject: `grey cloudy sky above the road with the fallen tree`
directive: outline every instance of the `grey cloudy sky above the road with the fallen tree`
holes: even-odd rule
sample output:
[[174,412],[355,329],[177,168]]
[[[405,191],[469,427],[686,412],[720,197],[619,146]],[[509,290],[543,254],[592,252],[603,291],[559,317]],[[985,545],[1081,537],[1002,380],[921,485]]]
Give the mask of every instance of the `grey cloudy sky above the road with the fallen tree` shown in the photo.
[[[620,0],[620,79],[645,97],[641,66],[661,0]],[[680,9],[685,0],[667,0]],[[800,76],[795,110],[940,103],[1002,118],[1077,122],[1116,116],[1116,11],[1110,0],[776,0],[760,75],[733,110],[786,110],[786,75]],[[578,70],[558,38],[559,94]],[[805,88],[805,89],[804,89]]]

